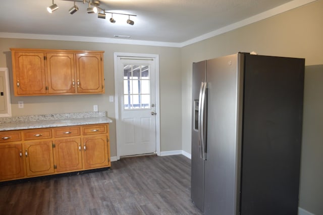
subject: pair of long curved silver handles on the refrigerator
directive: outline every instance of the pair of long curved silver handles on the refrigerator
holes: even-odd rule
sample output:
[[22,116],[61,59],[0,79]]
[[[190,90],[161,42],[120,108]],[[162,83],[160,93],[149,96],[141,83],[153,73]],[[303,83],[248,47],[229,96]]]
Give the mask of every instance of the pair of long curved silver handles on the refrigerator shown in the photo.
[[204,115],[205,115],[205,91],[206,82],[201,82],[201,88],[198,99],[198,143],[200,146],[200,157],[205,160],[205,128],[204,128]]

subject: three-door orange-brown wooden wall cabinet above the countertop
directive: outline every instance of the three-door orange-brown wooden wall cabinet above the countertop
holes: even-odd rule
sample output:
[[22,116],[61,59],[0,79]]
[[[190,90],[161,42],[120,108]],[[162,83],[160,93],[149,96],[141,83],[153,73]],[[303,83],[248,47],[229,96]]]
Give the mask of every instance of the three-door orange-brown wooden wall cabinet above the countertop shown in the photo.
[[104,93],[103,52],[11,48],[15,96]]

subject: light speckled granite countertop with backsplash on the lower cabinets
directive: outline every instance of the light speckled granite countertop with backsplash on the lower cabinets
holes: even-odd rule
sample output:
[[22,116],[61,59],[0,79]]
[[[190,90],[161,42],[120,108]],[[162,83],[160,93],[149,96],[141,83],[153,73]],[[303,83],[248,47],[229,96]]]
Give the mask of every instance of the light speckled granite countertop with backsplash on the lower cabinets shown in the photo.
[[112,123],[105,112],[32,115],[0,119],[0,131]]

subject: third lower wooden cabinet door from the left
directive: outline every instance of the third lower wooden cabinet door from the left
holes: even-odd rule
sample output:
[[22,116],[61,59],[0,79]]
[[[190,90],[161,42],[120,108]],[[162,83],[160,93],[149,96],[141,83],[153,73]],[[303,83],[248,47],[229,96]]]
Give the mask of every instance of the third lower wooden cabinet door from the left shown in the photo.
[[56,172],[81,170],[81,138],[55,140],[54,157]]

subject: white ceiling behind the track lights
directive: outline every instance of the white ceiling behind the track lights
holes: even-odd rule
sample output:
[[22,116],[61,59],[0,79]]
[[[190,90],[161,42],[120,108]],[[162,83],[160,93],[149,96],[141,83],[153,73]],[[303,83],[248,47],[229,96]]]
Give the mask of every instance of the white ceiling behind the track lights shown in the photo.
[[[313,0],[303,0],[304,2]],[[0,5],[0,32],[16,34],[60,35],[97,38],[130,36],[134,41],[183,43],[201,35],[223,29],[275,8],[284,12],[300,6],[299,0],[101,0],[107,12],[134,14],[134,25],[128,16],[113,15],[116,23],[86,13],[88,4],[76,2],[79,11],[69,14],[73,2],[54,0],[59,9],[48,13],[52,0],[6,0]],[[295,3],[296,2],[296,3]],[[294,4],[293,4],[294,3]],[[266,17],[265,17],[266,18]],[[263,18],[259,18],[263,19]],[[257,20],[255,20],[257,21]],[[1,36],[1,35],[0,35]],[[119,37],[120,40],[120,37]]]

